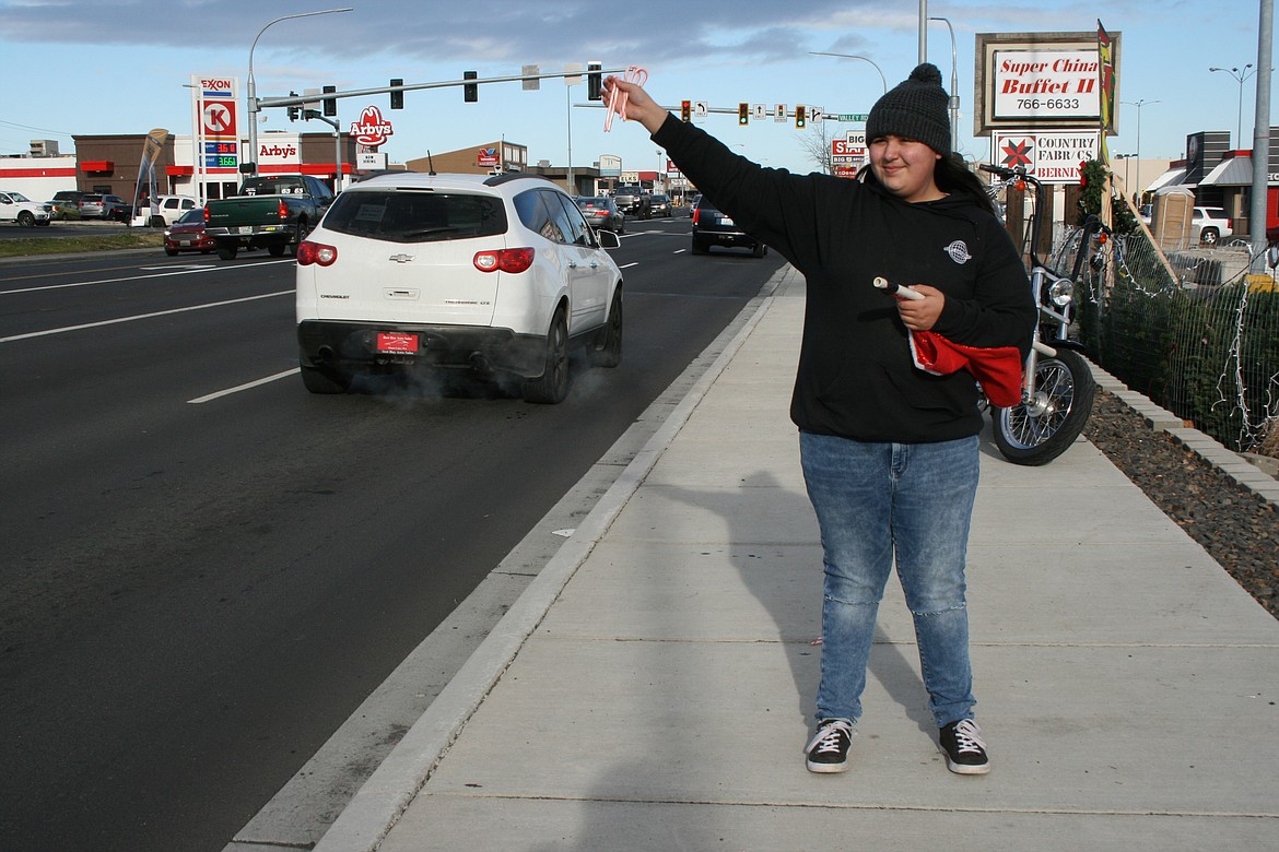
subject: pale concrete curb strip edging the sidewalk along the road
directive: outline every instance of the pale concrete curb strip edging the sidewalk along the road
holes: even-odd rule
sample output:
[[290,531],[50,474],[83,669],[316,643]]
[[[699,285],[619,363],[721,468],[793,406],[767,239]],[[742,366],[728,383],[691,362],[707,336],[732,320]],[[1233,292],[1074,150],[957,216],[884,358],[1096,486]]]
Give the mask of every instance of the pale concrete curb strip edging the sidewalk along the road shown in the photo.
[[[693,410],[773,307],[788,264],[765,284],[761,301],[715,363],[671,409],[666,420],[546,563],[492,632],[441,690],[313,847],[315,852],[373,852],[413,802],[492,686],[541,623],[564,586],[586,562],[654,465],[683,429]],[[749,309],[749,308],[748,308]],[[678,382],[679,379],[677,379]]]

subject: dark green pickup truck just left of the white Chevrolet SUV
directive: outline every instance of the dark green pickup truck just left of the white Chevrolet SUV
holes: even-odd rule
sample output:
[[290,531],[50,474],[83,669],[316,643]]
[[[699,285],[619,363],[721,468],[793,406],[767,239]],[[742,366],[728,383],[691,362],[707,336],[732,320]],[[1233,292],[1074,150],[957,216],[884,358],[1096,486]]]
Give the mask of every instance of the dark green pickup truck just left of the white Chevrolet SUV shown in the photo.
[[242,248],[280,257],[297,252],[331,203],[333,190],[311,175],[248,178],[239,194],[205,204],[205,234],[224,261]]

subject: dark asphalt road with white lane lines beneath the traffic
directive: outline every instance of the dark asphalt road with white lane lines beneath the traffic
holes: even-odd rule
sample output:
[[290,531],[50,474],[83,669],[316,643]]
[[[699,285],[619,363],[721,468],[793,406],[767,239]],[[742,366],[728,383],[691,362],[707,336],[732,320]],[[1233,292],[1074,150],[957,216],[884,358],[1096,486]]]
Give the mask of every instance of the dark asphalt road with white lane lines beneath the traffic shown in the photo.
[[687,230],[558,406],[307,393],[262,253],[0,264],[0,847],[223,848],[780,264]]

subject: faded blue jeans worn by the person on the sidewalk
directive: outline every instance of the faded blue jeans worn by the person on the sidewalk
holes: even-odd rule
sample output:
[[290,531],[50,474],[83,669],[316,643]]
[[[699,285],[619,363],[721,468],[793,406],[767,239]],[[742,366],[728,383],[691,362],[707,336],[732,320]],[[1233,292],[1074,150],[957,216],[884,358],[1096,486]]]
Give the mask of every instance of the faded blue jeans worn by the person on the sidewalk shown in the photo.
[[964,556],[977,438],[865,443],[801,432],[799,455],[826,566],[817,718],[856,722],[862,714],[875,618],[894,557],[929,709],[938,727],[972,718]]

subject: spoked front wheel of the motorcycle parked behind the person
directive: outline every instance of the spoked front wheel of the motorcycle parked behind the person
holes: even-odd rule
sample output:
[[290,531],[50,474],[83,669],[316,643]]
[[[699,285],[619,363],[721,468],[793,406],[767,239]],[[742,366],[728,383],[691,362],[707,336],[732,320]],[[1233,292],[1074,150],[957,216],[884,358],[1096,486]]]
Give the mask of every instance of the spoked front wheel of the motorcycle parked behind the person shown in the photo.
[[1046,465],[1069,448],[1092,413],[1097,386],[1078,353],[1059,349],[1040,356],[1035,399],[1008,409],[991,409],[995,446],[1016,465]]

